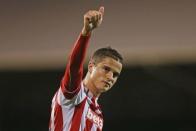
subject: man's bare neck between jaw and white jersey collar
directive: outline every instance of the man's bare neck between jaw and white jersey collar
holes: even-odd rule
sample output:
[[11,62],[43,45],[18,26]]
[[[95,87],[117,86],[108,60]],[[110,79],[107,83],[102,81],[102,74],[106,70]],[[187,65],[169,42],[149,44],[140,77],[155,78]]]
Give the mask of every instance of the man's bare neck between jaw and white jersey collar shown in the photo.
[[86,88],[89,89],[89,91],[93,94],[93,96],[99,97],[101,95],[101,93],[97,90],[97,88],[91,81],[89,73],[87,73],[86,77],[83,79],[83,84]]

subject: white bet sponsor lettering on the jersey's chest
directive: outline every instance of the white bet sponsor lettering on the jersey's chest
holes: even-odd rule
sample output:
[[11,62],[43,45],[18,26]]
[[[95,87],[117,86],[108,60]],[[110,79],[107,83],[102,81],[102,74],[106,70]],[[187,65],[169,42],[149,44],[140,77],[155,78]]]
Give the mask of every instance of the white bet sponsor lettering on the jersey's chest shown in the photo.
[[90,108],[88,109],[86,117],[92,121],[94,124],[98,126],[99,129],[102,130],[103,128],[103,119],[99,117],[94,111],[92,111]]

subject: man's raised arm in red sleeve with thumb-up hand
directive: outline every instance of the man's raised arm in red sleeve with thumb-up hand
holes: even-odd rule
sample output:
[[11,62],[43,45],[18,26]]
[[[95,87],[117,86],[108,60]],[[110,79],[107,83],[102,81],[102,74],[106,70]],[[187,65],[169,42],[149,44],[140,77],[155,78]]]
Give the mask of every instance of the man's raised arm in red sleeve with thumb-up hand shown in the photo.
[[84,26],[69,55],[65,74],[61,81],[61,89],[67,98],[72,98],[80,90],[83,76],[83,63],[88,47],[91,32],[97,28],[103,20],[104,7],[99,11],[90,10],[84,15]]

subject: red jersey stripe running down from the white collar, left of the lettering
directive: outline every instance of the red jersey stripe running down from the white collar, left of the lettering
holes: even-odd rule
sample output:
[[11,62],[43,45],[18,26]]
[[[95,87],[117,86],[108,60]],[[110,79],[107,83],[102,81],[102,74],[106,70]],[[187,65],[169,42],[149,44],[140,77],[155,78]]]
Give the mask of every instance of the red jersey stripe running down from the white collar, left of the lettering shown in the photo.
[[70,131],[79,131],[80,124],[81,124],[81,118],[82,118],[82,114],[83,114],[83,111],[84,111],[84,106],[86,104],[86,100],[87,100],[87,97],[83,100],[82,103],[75,106]]

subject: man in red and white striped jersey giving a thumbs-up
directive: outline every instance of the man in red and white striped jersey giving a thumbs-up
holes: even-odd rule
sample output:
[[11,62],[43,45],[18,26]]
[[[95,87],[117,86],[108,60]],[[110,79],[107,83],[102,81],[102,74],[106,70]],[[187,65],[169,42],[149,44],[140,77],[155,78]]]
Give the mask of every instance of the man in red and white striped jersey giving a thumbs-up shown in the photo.
[[83,63],[92,31],[102,23],[104,7],[84,15],[84,26],[69,56],[60,88],[52,100],[50,131],[101,131],[103,116],[97,103],[118,79],[122,57],[114,49],[101,48],[92,56],[83,76]]

